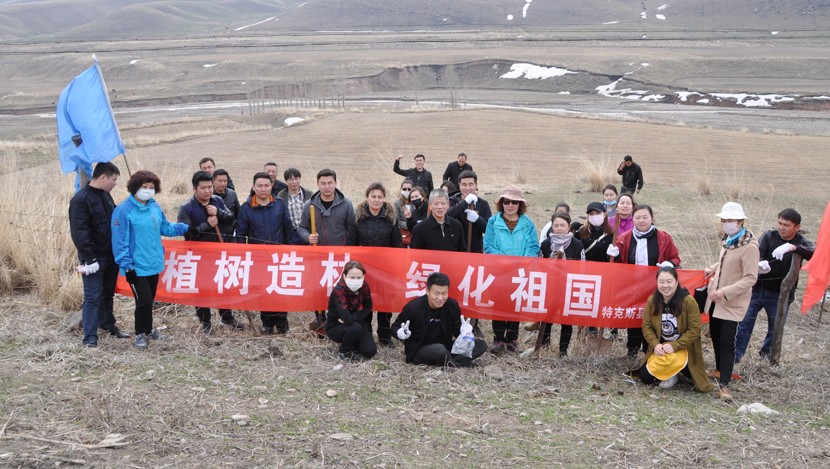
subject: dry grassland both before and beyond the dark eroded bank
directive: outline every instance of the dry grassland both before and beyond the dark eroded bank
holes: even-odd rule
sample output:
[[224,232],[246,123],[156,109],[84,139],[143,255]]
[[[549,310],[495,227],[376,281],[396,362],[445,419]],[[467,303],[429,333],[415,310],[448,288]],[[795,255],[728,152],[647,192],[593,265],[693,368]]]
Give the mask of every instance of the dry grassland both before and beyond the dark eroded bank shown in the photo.
[[[299,168],[309,188],[317,170],[331,167],[340,189],[360,201],[373,181],[397,191],[401,178],[391,167],[399,153],[407,155],[404,166],[424,153],[427,169],[440,176],[464,151],[482,197],[493,200],[507,184],[521,187],[541,227],[559,201],[583,215],[600,197],[592,180],[618,183],[613,169],[631,154],[645,173],[637,200],[654,207],[656,224],[674,237],[685,268],[716,259],[714,214],[729,200],[744,205],[756,234],[774,226],[779,210],[794,207],[806,236],[815,239],[830,187],[823,112],[690,113],[685,106],[486,89],[464,93],[470,102],[516,108],[416,105],[412,90],[402,89],[355,94],[337,110],[173,109],[193,95],[484,59],[609,75],[648,62],[634,74],[644,83],[757,93],[826,94],[830,69],[821,40],[565,44],[483,32],[447,43],[448,34],[392,36],[4,45],[0,466],[830,465],[830,317],[819,323],[817,308],[796,313],[798,300],[778,367],[757,357],[766,328],[759,318],[736,370],[743,379],[734,385],[733,404],[687,385],[662,391],[627,381],[623,371],[631,364],[622,342],[606,357],[591,356],[578,341],[565,359],[549,351],[531,359],[488,354],[484,367],[470,370],[413,367],[398,346],[339,368],[332,344],[306,334],[309,313],[291,316],[293,333],[286,337],[220,330],[205,338],[193,308],[160,306],[156,325],[166,337],[146,352],[110,337],[83,349],[78,332],[62,329],[80,307],[81,280],[73,272],[66,218],[72,179],[59,174],[54,118],[44,109],[53,109],[67,81],[89,66],[92,51],[99,51],[109,88],[118,90],[130,168],[160,174],[158,199],[170,218],[190,196],[190,176],[203,156],[228,169],[242,192],[265,161]],[[407,42],[415,36],[421,42]],[[209,63],[222,65],[203,67]],[[447,99],[446,89],[419,91],[420,99]],[[367,101],[381,95],[408,101]],[[128,106],[137,99],[161,101]],[[562,111],[529,109],[551,103]],[[306,122],[283,126],[295,116]],[[124,160],[115,163],[125,182]],[[124,182],[113,192],[116,201],[126,195]],[[116,301],[119,325],[129,331],[132,306],[130,299]],[[707,339],[704,346],[711,365]],[[327,396],[329,390],[336,395]],[[753,402],[780,414],[737,412]],[[123,438],[107,439],[114,434]]]

